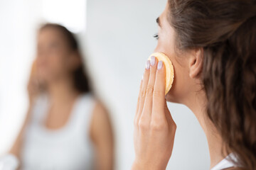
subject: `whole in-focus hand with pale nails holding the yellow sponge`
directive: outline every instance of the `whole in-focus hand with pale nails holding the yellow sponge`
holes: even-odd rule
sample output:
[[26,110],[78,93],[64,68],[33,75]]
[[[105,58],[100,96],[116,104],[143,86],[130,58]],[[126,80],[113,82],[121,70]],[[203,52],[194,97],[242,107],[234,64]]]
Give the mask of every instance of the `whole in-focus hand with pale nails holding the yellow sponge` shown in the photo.
[[165,67],[156,57],[146,62],[134,118],[133,170],[166,169],[174,147],[176,124],[166,106]]

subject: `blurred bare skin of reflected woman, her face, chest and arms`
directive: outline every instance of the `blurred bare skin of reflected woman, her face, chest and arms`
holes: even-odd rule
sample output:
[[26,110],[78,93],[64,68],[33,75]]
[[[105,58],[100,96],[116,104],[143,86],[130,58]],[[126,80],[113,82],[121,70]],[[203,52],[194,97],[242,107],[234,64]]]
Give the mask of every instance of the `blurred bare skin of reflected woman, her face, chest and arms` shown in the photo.
[[[24,128],[31,116],[33,102],[40,94],[38,81],[47,86],[51,106],[46,116],[44,126],[49,130],[63,128],[80,95],[73,86],[70,72],[81,64],[77,52],[70,50],[63,35],[55,28],[44,28],[38,33],[38,48],[36,57],[36,73],[32,70],[28,81],[29,109],[26,121],[21,128],[10,153],[20,157]],[[36,83],[37,82],[37,83]],[[114,140],[110,118],[103,104],[96,100],[90,122],[90,138],[95,146],[95,166],[98,170],[111,170],[114,166]],[[22,162],[21,162],[22,164]]]

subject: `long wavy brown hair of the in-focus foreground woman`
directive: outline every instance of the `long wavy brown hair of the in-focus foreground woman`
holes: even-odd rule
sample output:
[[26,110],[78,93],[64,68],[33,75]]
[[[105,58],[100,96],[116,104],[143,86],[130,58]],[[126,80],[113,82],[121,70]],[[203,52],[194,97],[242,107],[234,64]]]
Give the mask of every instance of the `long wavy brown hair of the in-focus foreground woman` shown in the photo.
[[256,169],[256,1],[169,0],[168,20],[179,50],[203,48],[207,115],[225,152]]

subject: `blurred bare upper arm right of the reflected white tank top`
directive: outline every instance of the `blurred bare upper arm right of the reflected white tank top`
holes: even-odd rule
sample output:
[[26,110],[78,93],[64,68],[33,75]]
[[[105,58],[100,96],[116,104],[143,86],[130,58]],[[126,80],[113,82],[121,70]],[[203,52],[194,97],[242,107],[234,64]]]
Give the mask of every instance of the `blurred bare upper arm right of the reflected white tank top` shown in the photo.
[[114,169],[114,139],[112,125],[105,107],[97,101],[92,113],[90,136],[96,149],[96,169]]

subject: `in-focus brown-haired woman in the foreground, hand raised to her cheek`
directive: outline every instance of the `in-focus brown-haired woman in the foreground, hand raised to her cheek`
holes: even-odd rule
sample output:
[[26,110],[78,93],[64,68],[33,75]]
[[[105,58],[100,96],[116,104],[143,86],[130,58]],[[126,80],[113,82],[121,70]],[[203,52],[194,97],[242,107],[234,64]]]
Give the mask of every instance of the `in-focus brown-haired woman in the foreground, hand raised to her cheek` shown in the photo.
[[165,67],[146,62],[134,118],[132,169],[166,169],[176,124],[166,101],[193,111],[206,133],[211,169],[256,169],[256,2],[169,0],[156,52],[174,64],[165,91]]

